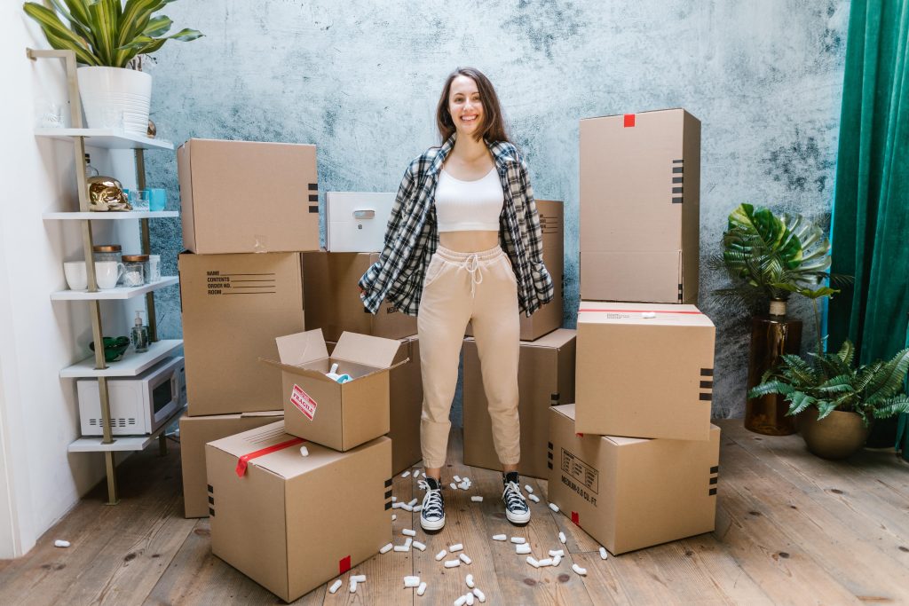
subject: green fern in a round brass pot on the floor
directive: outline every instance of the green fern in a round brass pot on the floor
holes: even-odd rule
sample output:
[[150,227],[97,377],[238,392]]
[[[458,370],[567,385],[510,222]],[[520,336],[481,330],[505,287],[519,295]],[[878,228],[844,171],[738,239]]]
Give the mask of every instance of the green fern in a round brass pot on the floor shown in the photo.
[[843,343],[837,353],[812,353],[811,360],[784,354],[782,362],[764,373],[749,397],[782,395],[786,414],[804,412],[802,437],[808,450],[825,459],[843,459],[862,448],[874,419],[909,412],[903,382],[909,370],[909,349],[887,362],[854,364],[854,346]]

